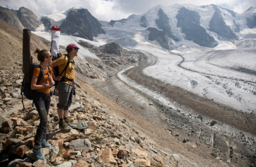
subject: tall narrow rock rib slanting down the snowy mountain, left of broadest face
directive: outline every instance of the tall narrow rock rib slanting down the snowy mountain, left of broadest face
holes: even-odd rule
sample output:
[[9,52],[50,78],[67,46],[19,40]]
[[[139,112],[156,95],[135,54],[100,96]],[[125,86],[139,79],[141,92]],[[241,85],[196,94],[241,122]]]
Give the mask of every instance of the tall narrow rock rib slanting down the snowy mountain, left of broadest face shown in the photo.
[[157,23],[157,26],[159,29],[162,29],[166,32],[168,37],[171,37],[175,41],[179,41],[173,33],[171,32],[171,26],[169,24],[169,18],[168,16],[163,12],[163,10],[160,8],[158,11],[159,19],[155,20],[155,23]]

